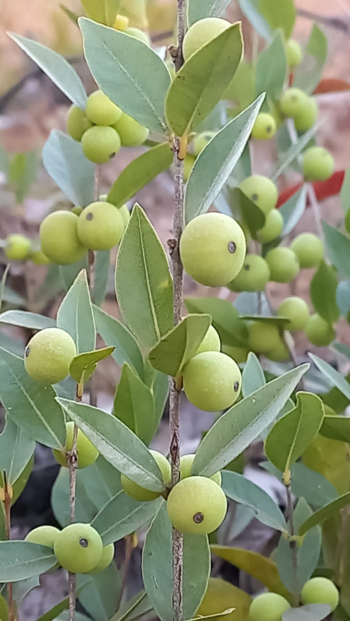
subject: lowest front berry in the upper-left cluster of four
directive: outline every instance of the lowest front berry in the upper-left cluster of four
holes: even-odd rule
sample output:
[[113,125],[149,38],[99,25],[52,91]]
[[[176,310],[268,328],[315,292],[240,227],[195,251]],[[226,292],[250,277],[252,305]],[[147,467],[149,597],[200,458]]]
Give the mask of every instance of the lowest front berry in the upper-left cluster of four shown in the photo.
[[95,164],[106,164],[121,148],[121,139],[113,127],[96,125],[81,138],[83,152]]

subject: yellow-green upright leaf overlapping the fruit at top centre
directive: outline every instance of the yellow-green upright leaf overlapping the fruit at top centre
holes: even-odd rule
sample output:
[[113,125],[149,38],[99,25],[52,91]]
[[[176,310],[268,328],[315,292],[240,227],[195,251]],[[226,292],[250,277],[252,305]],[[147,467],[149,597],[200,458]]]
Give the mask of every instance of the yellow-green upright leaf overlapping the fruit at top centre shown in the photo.
[[233,24],[191,55],[165,100],[168,125],[177,136],[205,119],[228,89],[242,58],[241,24]]

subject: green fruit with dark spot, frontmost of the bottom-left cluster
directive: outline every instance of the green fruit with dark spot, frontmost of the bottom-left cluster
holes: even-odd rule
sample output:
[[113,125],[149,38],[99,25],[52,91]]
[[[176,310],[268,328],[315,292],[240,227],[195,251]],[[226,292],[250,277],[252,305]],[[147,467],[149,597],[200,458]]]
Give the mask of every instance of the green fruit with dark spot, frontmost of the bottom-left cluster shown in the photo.
[[101,561],[103,545],[97,530],[90,524],[70,524],[55,539],[58,563],[72,574],[91,571]]

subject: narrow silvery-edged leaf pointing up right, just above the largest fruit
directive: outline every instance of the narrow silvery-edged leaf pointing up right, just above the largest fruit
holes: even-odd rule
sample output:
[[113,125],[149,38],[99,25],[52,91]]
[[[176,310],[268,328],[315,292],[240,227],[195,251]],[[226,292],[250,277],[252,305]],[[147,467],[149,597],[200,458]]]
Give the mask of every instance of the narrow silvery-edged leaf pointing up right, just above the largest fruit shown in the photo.
[[225,125],[196,158],[185,192],[186,222],[208,211],[223,189],[242,155],[263,101],[264,95]]

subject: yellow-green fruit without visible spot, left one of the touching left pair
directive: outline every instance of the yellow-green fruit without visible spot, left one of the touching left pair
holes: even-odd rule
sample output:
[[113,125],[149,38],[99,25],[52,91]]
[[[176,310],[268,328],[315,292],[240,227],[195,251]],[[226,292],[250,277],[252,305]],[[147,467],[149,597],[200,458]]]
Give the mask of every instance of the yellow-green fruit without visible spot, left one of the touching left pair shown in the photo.
[[40,224],[42,252],[52,263],[68,265],[86,255],[78,237],[78,216],[71,211],[55,211]]

